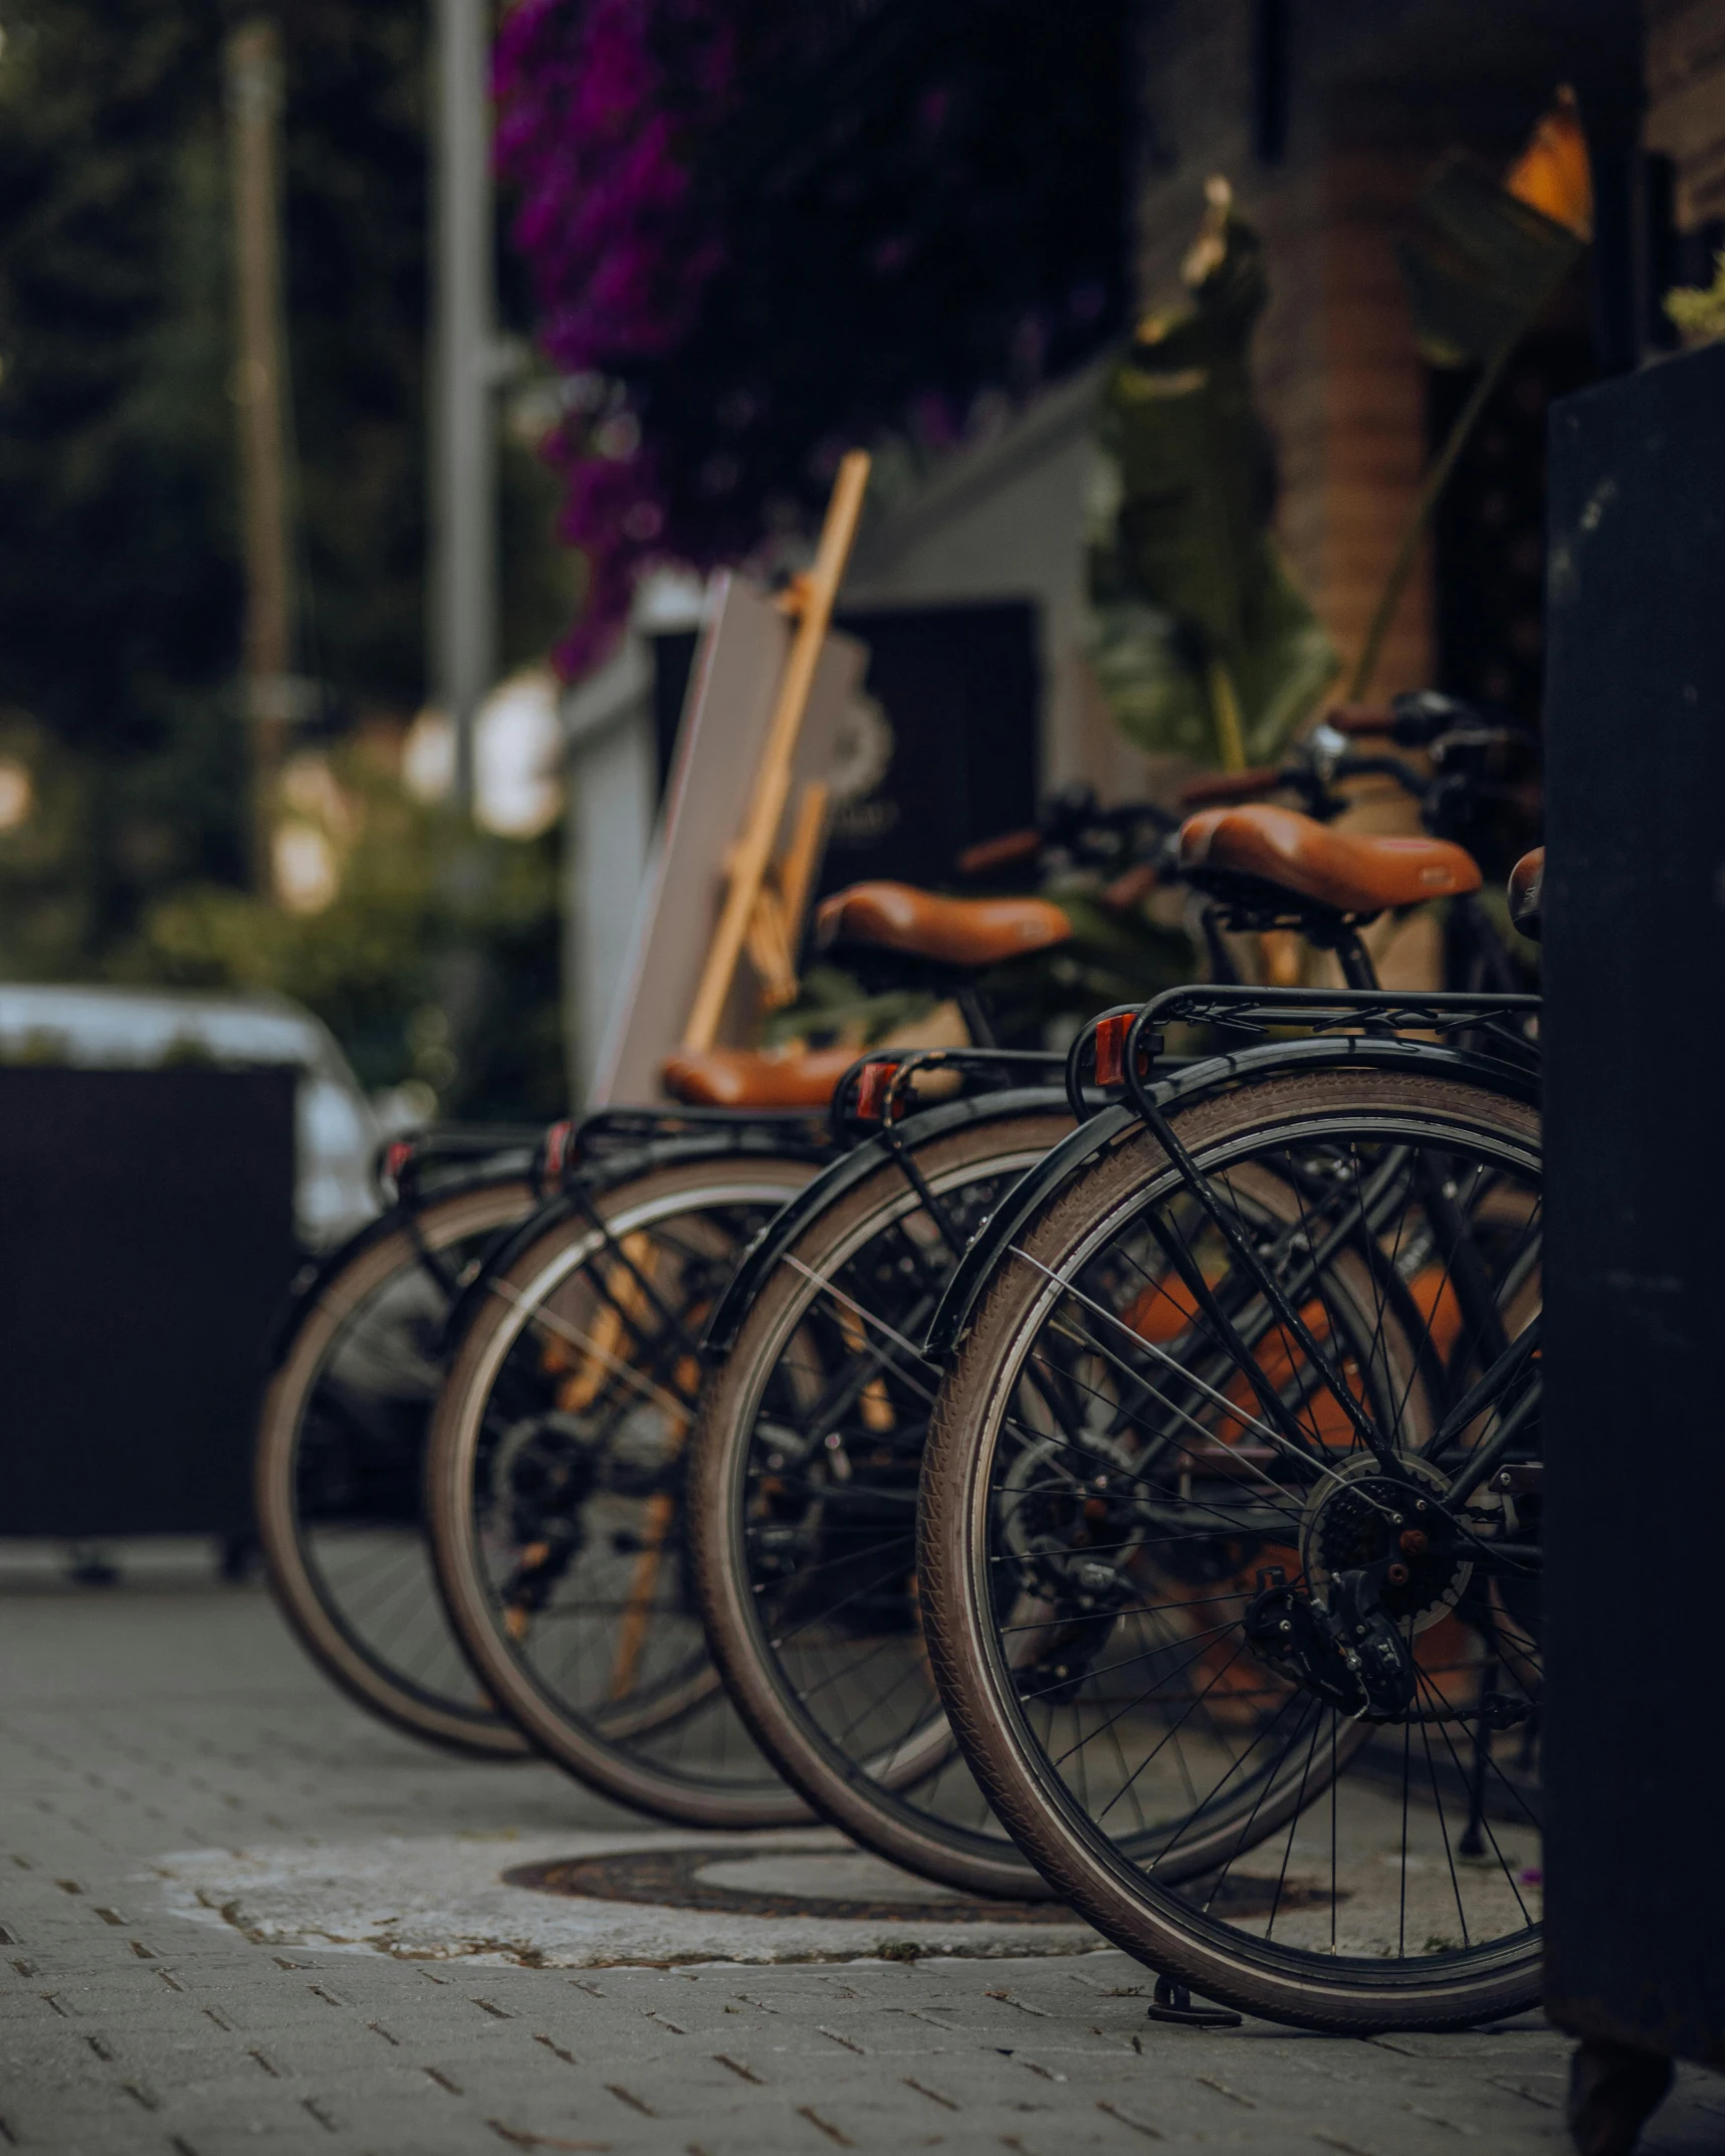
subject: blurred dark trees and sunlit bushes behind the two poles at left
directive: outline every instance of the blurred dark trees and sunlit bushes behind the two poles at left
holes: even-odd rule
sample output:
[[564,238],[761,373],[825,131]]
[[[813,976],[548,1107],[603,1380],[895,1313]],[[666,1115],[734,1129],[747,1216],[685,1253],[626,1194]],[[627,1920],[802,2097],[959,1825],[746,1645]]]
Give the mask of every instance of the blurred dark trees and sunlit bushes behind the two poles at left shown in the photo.
[[[341,886],[252,897],[220,0],[9,0],[0,56],[0,977],[272,987],[362,1080],[558,1112],[556,834],[451,875],[397,780],[425,699],[425,0],[280,0],[310,716]],[[505,328],[524,306],[500,265]],[[528,416],[530,418],[530,416]],[[505,425],[505,668],[576,602]],[[321,817],[319,817],[321,808]],[[483,1011],[485,1024],[472,1018]],[[464,1044],[457,1067],[448,1039]]]

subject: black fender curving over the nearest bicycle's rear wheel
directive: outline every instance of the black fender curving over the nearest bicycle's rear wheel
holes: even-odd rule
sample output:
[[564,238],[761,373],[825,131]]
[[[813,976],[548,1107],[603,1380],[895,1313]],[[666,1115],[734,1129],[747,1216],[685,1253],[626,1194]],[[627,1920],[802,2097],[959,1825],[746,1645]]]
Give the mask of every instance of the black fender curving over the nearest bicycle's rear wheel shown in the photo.
[[[1259,1048],[1242,1048],[1233,1054],[1203,1056],[1169,1078],[1151,1080],[1151,1095],[1167,1112],[1190,1108],[1214,1093],[1227,1093],[1253,1078],[1268,1078],[1281,1072],[1305,1069],[1417,1069],[1436,1078],[1466,1078],[1471,1084],[1512,1100],[1540,1102],[1540,1078],[1533,1069],[1501,1063],[1494,1056],[1473,1054],[1460,1048],[1440,1048],[1434,1041],[1404,1041],[1369,1037],[1358,1033],[1317,1035],[1305,1041],[1266,1041]],[[923,1354],[932,1363],[944,1363],[960,1345],[970,1313],[994,1276],[994,1268],[1013,1246],[1018,1235],[1054,1197],[1057,1190],[1080,1169],[1089,1166],[1098,1153],[1108,1151],[1126,1132],[1141,1128],[1136,1108],[1117,1102],[1080,1123],[1070,1138],[1063,1138],[1039,1166],[1018,1181],[998,1207],[988,1216],[977,1240],[964,1253],[940,1298],[940,1309],[929,1319]]]

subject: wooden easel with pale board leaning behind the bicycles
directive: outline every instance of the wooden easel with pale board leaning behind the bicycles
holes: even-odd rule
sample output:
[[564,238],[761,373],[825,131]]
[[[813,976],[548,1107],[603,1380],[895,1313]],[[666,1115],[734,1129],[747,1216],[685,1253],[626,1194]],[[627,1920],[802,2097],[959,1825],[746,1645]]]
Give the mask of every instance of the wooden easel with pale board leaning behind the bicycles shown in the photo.
[[869,459],[839,466],[813,567],[785,599],[720,573],[589,1108],[662,1100],[677,1048],[742,1046],[796,996],[839,718],[867,651],[830,630]]

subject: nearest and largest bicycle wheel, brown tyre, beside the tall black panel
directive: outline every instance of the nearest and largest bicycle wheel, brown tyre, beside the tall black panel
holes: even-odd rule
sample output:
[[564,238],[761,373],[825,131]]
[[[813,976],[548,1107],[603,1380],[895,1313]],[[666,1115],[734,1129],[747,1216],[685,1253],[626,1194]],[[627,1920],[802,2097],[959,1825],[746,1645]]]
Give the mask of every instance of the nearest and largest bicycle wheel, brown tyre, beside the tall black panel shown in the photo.
[[1313,2029],[1518,2012],[1537,1117],[1320,1072],[1175,1128],[1214,1212],[1128,1134],[1016,1240],[942,1384],[921,1587],[953,1729],[1059,1893],[1164,1975]]

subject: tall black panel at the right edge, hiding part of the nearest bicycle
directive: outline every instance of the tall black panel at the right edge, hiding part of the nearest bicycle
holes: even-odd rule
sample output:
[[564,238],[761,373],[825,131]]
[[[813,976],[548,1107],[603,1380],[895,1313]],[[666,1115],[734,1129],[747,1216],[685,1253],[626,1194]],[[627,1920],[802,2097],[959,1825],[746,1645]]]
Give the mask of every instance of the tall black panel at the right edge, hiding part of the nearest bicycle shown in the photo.
[[1550,448],[1546,1973],[1598,2119],[1725,2065],[1725,345]]

